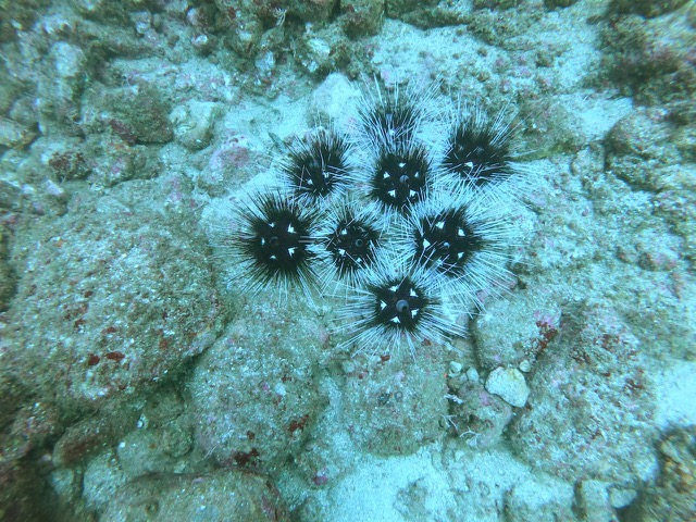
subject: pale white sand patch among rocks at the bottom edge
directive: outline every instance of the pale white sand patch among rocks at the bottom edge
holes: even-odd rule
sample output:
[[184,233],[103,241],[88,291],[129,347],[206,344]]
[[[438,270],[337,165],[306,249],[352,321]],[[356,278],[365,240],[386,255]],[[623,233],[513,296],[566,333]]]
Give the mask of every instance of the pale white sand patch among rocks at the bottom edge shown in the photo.
[[366,457],[355,470],[328,493],[328,520],[493,522],[510,494],[532,510],[573,499],[571,484],[497,449],[440,453],[435,445],[409,457]]

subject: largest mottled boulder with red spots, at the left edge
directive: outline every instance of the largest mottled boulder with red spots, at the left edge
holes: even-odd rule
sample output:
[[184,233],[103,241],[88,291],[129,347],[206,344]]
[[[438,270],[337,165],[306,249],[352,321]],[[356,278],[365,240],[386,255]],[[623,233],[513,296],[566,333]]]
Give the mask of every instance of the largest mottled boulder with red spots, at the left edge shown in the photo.
[[147,190],[82,199],[34,231],[22,262],[3,363],[69,417],[165,378],[220,331],[206,247]]

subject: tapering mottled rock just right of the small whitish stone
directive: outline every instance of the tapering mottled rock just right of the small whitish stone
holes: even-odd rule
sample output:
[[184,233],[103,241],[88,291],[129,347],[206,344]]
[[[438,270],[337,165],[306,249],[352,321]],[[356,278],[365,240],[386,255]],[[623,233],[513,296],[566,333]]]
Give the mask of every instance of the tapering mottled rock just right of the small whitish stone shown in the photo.
[[588,303],[573,318],[538,362],[529,408],[510,431],[512,446],[561,476],[649,477],[657,431],[641,343],[612,310]]

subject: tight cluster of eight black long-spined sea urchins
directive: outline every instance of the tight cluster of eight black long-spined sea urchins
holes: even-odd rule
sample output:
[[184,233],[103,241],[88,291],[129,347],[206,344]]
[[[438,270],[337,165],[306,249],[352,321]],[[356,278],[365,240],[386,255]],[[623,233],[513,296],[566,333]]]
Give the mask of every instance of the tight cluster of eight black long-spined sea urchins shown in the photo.
[[442,117],[434,95],[368,91],[355,128],[320,126],[289,150],[283,188],[237,212],[250,289],[346,289],[338,320],[359,351],[463,334],[447,304],[470,311],[507,278],[500,195],[519,167],[504,113],[459,104]]

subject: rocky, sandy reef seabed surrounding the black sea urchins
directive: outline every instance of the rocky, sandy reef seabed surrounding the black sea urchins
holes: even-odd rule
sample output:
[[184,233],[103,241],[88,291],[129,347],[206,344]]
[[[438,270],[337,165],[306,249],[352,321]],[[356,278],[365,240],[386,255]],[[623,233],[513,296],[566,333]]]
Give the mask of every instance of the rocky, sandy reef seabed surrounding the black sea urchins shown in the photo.
[[[0,519],[696,519],[693,2],[0,0]],[[217,244],[375,83],[526,176],[413,355]]]

